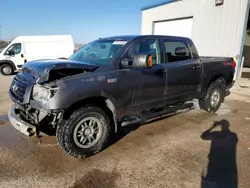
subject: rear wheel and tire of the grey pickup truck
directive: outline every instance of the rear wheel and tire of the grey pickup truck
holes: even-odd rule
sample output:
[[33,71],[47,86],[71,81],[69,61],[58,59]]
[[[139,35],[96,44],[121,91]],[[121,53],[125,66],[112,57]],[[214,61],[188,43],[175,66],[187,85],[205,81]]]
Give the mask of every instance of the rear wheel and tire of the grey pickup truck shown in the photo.
[[[208,87],[205,96],[199,100],[200,108],[209,113],[215,113],[220,108],[221,103],[224,101],[225,89],[226,82],[223,78],[219,78],[215,82],[212,82]],[[218,96],[217,100],[215,96]]]

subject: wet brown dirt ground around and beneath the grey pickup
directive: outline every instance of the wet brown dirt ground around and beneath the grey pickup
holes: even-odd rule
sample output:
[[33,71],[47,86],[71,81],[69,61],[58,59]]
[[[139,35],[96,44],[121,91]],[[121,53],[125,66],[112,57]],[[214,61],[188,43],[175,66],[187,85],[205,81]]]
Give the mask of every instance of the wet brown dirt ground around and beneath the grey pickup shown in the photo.
[[217,114],[195,109],[128,127],[107,149],[79,160],[55,137],[38,145],[10,126],[12,78],[0,76],[1,188],[250,187],[249,86],[235,88]]

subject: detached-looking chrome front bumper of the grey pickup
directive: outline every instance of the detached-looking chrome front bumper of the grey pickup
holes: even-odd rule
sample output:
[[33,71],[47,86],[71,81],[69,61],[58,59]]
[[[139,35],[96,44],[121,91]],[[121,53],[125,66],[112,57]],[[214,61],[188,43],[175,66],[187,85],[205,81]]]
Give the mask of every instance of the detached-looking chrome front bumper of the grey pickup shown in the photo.
[[36,127],[19,118],[18,114],[15,112],[14,104],[9,109],[8,117],[11,125],[21,133],[26,136],[33,136],[35,134]]

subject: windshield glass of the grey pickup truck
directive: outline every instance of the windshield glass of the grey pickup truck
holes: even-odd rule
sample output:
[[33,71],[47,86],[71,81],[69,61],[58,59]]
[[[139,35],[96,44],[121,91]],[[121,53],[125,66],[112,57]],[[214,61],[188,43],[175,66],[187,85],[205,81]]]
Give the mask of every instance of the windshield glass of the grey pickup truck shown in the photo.
[[107,65],[126,43],[121,40],[96,40],[79,49],[69,60]]

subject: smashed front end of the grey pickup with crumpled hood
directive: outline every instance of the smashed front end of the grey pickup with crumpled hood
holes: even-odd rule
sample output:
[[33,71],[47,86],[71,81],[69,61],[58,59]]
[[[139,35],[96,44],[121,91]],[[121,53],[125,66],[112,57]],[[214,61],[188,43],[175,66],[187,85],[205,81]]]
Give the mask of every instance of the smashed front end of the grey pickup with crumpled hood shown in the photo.
[[57,80],[94,71],[95,65],[60,61],[27,63],[12,81],[9,95],[14,104],[9,111],[11,124],[28,136],[40,131],[54,135],[64,109],[53,109],[50,100],[60,87]]

